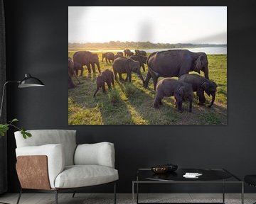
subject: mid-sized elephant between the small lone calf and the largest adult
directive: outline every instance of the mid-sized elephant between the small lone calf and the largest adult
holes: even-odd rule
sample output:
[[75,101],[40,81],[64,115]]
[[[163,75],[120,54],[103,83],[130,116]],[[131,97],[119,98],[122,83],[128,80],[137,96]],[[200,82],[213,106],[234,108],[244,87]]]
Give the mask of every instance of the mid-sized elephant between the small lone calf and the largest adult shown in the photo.
[[135,72],[138,74],[139,78],[142,79],[142,82],[144,84],[144,79],[142,77],[142,72],[140,71],[139,62],[134,61],[132,59],[126,58],[126,57],[118,57],[116,60],[114,60],[113,63],[113,70],[114,70],[114,79],[117,81],[117,73],[119,75],[119,81],[124,81],[122,79],[122,74],[126,73],[127,78],[125,81],[132,81],[132,72]]

